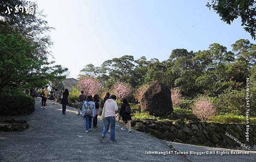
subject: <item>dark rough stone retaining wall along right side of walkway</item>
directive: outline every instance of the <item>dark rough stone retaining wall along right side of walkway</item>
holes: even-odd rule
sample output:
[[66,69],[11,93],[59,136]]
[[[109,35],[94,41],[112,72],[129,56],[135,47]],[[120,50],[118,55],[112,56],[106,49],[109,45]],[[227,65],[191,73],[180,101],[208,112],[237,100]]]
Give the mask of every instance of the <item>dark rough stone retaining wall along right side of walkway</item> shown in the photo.
[[184,122],[179,120],[131,120],[131,126],[137,131],[156,136],[159,139],[204,145],[218,148],[231,148],[246,150],[226,133],[236,137],[241,143],[253,148],[256,145],[256,124],[250,125],[250,139],[246,142],[245,124],[208,123],[208,122]]

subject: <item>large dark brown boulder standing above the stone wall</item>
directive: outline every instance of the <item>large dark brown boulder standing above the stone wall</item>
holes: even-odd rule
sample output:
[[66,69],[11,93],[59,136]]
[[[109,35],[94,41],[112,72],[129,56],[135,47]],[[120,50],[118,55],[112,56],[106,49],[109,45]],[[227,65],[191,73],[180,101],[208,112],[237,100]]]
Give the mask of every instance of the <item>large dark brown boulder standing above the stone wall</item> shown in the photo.
[[170,89],[158,80],[153,82],[140,99],[141,111],[156,117],[173,112]]

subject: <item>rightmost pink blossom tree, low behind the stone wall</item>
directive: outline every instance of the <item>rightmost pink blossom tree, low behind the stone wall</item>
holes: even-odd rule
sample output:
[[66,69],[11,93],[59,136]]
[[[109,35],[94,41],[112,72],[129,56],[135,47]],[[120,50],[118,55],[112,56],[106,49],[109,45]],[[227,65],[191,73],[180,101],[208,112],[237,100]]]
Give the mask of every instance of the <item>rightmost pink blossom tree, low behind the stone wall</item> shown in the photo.
[[192,112],[202,121],[206,121],[210,116],[215,114],[215,108],[210,99],[201,97],[195,100],[192,105]]

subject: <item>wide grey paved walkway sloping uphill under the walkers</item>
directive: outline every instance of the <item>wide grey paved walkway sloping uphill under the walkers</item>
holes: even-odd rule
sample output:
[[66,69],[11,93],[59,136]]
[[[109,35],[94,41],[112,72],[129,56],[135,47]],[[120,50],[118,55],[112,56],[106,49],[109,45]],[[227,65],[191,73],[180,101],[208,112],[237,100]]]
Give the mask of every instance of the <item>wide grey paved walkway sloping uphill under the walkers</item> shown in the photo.
[[[41,109],[41,98],[36,99],[35,112],[28,116],[15,117],[26,119],[30,128],[21,132],[0,132],[0,162],[254,162],[256,151],[250,155],[181,155],[179,151],[234,151],[221,148],[186,145],[164,142],[142,132],[122,131],[116,124],[116,143],[109,142],[109,133],[102,143],[99,136],[103,123],[85,133],[85,121],[77,116],[77,110],[67,107],[67,115],[61,115],[61,105],[52,105],[49,100],[47,109]],[[169,148],[167,145],[172,145]],[[168,151],[166,155],[145,155],[145,151]],[[175,152],[177,151],[177,152]]]

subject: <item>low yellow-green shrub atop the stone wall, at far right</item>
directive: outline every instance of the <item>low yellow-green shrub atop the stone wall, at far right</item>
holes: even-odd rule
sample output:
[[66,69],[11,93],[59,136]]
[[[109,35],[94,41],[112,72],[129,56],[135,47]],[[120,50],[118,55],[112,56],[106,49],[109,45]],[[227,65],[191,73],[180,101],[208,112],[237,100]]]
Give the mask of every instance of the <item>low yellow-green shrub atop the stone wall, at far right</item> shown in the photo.
[[[256,118],[249,118],[250,124],[256,124]],[[215,115],[209,117],[209,122],[245,123],[246,117],[235,114]]]

